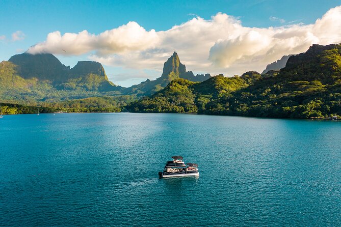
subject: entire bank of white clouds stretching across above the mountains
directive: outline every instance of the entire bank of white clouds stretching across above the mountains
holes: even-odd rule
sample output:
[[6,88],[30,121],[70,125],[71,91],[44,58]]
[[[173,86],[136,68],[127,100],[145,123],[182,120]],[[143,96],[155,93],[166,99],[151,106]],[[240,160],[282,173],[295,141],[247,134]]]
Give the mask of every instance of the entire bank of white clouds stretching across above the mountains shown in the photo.
[[[282,19],[270,17],[279,22]],[[127,69],[162,70],[163,63],[177,51],[188,70],[225,75],[247,70],[262,71],[283,55],[306,51],[314,43],[341,42],[341,6],[330,9],[313,24],[258,28],[243,26],[241,20],[218,13],[205,20],[195,16],[166,31],[146,31],[129,22],[98,35],[87,31],[47,35],[30,53],[89,54],[104,65]],[[63,51],[66,50],[65,51]]]

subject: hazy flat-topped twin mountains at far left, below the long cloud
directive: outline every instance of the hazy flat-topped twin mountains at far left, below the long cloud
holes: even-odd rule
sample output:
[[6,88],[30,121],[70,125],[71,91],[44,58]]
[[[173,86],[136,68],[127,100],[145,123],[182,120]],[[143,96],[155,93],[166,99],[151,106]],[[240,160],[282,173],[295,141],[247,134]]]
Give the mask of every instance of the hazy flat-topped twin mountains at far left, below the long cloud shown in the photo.
[[22,53],[0,63],[3,102],[56,102],[117,95],[121,89],[108,80],[104,68],[97,62],[78,62],[70,69],[53,54]]

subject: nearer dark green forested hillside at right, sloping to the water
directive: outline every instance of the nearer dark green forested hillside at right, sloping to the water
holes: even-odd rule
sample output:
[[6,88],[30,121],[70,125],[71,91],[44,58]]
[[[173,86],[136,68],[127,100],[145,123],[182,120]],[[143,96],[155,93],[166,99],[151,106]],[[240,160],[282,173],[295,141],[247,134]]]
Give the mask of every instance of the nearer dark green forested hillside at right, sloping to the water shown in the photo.
[[173,80],[158,93],[129,103],[132,112],[190,112],[252,117],[341,115],[341,45],[312,45],[280,71],[215,76],[199,83]]

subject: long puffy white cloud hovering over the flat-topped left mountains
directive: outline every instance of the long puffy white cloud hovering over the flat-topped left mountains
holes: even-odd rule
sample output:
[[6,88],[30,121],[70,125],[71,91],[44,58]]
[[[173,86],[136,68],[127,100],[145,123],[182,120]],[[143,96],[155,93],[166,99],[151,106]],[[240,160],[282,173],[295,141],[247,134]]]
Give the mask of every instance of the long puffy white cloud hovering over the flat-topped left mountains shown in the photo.
[[49,33],[45,42],[31,47],[28,52],[80,55],[95,51],[97,55],[103,56],[152,48],[157,43],[158,35],[154,30],[147,32],[138,23],[129,22],[99,35],[86,30],[77,34],[62,35],[59,31]]

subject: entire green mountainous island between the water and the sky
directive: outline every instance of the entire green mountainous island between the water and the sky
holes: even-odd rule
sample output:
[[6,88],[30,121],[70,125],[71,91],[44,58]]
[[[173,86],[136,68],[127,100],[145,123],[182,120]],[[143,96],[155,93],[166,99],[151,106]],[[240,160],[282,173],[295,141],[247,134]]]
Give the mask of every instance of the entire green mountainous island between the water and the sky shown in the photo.
[[70,69],[52,54],[17,54],[0,63],[6,114],[178,112],[271,118],[341,116],[341,44],[312,45],[284,68],[241,76],[194,75],[176,52],[161,77],[130,88],[108,80],[96,62]]

